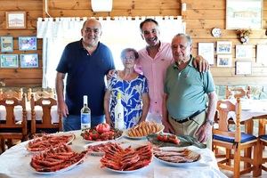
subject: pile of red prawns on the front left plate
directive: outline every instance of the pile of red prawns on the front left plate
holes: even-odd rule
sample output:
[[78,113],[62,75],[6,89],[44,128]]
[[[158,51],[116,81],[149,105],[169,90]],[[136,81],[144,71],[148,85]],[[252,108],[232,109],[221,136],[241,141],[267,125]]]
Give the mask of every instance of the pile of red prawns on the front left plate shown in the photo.
[[85,158],[87,150],[76,153],[68,145],[40,152],[31,158],[30,165],[37,172],[56,172]]

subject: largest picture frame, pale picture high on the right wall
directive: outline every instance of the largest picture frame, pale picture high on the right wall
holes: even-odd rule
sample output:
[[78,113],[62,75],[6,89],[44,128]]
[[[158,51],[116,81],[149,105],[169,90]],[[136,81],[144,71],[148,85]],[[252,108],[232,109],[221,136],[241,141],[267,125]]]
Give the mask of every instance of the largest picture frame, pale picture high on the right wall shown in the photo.
[[263,0],[227,0],[226,29],[263,26]]

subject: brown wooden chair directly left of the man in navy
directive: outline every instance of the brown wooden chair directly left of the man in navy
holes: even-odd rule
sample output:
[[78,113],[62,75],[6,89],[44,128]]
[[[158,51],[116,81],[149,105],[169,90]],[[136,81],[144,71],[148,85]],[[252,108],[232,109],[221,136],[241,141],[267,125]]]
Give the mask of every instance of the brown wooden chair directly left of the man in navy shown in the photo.
[[[36,120],[36,106],[43,109],[42,121]],[[31,109],[31,134],[40,132],[58,132],[62,130],[61,117],[58,115],[59,123],[53,123],[51,109],[57,106],[57,101],[53,98],[39,98],[35,100],[34,94],[31,94],[30,109]]]

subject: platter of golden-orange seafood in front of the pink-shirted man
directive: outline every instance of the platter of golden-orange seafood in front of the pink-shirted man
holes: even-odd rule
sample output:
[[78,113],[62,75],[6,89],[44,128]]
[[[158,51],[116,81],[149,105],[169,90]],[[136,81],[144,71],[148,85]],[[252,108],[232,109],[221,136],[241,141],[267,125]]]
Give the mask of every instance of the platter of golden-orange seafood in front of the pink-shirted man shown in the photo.
[[125,137],[129,139],[145,139],[149,134],[161,133],[164,130],[164,125],[155,122],[141,122],[139,125],[128,129],[125,132]]

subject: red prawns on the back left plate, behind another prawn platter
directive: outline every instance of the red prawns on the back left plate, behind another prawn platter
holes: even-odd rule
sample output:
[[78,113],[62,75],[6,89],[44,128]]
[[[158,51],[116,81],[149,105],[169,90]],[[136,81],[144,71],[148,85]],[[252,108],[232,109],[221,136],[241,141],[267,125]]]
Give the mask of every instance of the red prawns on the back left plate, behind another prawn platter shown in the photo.
[[73,134],[66,135],[53,135],[44,134],[41,137],[37,137],[31,142],[28,142],[27,150],[29,151],[43,151],[49,149],[55,149],[63,144],[68,143],[74,137]]

